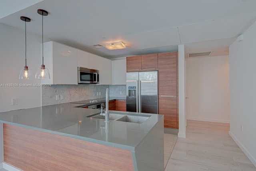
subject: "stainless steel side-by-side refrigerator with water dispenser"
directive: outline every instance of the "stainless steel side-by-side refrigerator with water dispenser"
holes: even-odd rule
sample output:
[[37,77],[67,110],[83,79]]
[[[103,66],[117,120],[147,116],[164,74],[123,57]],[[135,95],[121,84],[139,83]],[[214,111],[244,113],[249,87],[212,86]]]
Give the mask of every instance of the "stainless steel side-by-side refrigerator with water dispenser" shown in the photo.
[[158,71],[126,73],[126,111],[158,113]]

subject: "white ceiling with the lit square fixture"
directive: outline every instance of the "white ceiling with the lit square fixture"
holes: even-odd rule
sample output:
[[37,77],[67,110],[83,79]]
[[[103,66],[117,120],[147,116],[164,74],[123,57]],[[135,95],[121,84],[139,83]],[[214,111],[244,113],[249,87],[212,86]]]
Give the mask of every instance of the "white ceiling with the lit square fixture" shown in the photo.
[[[0,23],[24,30],[20,16],[26,16],[31,18],[27,32],[41,35],[42,16],[36,11],[44,9],[49,13],[44,16],[44,37],[108,59],[177,51],[180,44],[185,45],[185,53],[226,55],[228,46],[256,21],[256,0],[3,2]],[[92,47],[118,41],[127,48]]]

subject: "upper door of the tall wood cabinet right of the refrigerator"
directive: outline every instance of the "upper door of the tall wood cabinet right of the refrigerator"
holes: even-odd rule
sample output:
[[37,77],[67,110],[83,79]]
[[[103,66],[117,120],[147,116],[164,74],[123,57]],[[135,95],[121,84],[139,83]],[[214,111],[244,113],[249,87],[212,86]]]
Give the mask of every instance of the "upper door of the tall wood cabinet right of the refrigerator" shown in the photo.
[[177,96],[176,52],[158,54],[159,95]]

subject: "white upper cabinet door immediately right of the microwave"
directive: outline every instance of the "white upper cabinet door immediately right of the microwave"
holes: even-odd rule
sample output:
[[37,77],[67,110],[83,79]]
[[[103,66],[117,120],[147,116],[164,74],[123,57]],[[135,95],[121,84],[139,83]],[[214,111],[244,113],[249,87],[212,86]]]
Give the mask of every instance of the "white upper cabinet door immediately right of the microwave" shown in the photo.
[[100,59],[100,85],[112,84],[112,61],[106,58]]

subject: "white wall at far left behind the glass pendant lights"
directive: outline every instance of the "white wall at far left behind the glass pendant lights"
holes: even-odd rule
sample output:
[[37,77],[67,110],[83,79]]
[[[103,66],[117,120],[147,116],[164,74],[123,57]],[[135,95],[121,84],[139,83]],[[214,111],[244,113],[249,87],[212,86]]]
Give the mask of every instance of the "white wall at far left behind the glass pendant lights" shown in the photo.
[[[40,36],[27,33],[27,66],[34,74],[41,65],[41,42]],[[0,24],[0,52],[0,112],[40,106],[41,87],[5,86],[40,83],[35,79],[18,79],[20,70],[25,66],[24,30]],[[12,105],[12,98],[18,98],[18,105]]]

